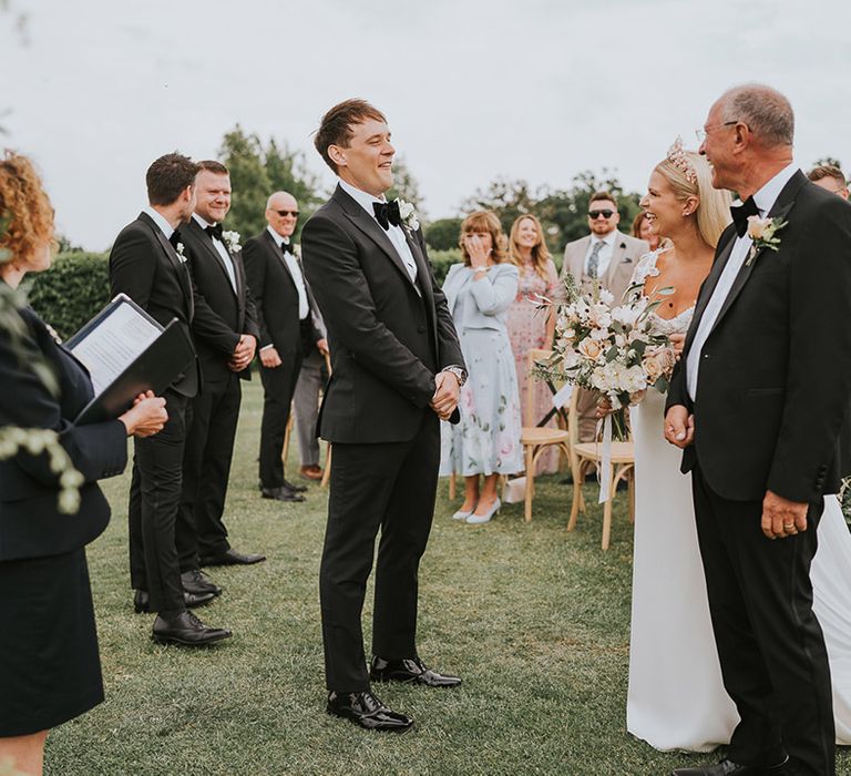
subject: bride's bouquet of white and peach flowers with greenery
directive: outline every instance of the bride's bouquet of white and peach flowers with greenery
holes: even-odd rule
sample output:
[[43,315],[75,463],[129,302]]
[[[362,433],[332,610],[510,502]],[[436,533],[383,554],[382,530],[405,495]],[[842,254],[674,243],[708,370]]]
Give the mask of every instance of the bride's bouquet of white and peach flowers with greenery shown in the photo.
[[[663,289],[659,294],[670,294]],[[565,302],[541,299],[553,310],[555,341],[553,356],[541,364],[540,372],[563,379],[572,386],[597,390],[612,409],[614,437],[625,438],[625,413],[638,404],[647,388],[666,391],[676,363],[667,336],[654,331],[650,313],[662,304],[650,302],[642,285],[626,289],[619,305],[599,285],[581,293],[570,273],[565,279]]]

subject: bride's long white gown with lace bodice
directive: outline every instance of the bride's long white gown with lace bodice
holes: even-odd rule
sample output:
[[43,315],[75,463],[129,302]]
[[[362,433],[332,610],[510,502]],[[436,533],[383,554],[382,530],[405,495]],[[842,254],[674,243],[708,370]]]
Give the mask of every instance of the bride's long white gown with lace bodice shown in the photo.
[[[655,274],[655,255],[636,269]],[[691,310],[655,318],[685,331]],[[632,408],[635,440],[635,550],[626,726],[657,749],[707,752],[727,744],[739,722],[721,684],[691,504],[691,477],[663,436],[665,397]],[[833,683],[837,743],[851,744],[851,534],[839,501],[824,499],[811,579]]]

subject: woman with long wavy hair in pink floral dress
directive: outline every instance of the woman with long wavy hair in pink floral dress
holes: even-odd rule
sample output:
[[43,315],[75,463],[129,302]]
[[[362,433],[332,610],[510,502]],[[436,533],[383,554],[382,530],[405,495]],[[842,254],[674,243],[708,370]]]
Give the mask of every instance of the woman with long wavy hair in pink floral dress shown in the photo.
[[[561,296],[561,283],[555,264],[544,242],[541,222],[533,215],[520,216],[509,234],[509,256],[520,270],[520,286],[514,302],[509,307],[509,338],[514,351],[514,366],[520,385],[520,407],[524,425],[535,426],[553,409],[553,395],[542,380],[533,386],[532,412],[527,417],[529,397],[529,351],[550,348],[555,331],[555,316],[540,309],[539,297],[555,299]],[[548,426],[555,427],[555,418]],[[558,450],[546,449],[537,459],[536,473],[552,473],[558,469]]]

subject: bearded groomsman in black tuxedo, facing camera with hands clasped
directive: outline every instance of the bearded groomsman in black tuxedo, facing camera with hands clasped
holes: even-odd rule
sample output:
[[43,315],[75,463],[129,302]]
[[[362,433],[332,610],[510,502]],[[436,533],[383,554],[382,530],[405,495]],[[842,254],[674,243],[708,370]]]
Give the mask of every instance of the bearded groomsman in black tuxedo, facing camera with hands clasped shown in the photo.
[[183,586],[221,593],[201,565],[234,565],[265,560],[242,553],[227,541],[222,519],[230,474],[236,423],[242,402],[240,379],[250,379],[259,330],[254,300],[235,232],[222,228],[230,210],[230,176],[219,162],[198,162],[195,212],[181,227],[181,241],[195,287],[217,316],[217,334],[195,330],[204,390],[193,399],[183,459],[183,497],[177,520],[177,550]]

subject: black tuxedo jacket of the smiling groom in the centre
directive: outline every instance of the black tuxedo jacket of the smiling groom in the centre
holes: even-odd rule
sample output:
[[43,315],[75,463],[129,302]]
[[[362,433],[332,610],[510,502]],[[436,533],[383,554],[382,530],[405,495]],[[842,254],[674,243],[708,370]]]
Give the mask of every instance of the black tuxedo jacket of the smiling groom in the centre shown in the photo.
[[422,233],[406,234],[419,294],[387,233],[341,187],[301,233],[331,350],[319,421],[329,441],[412,439],[432,411],[434,375],[464,364]]

